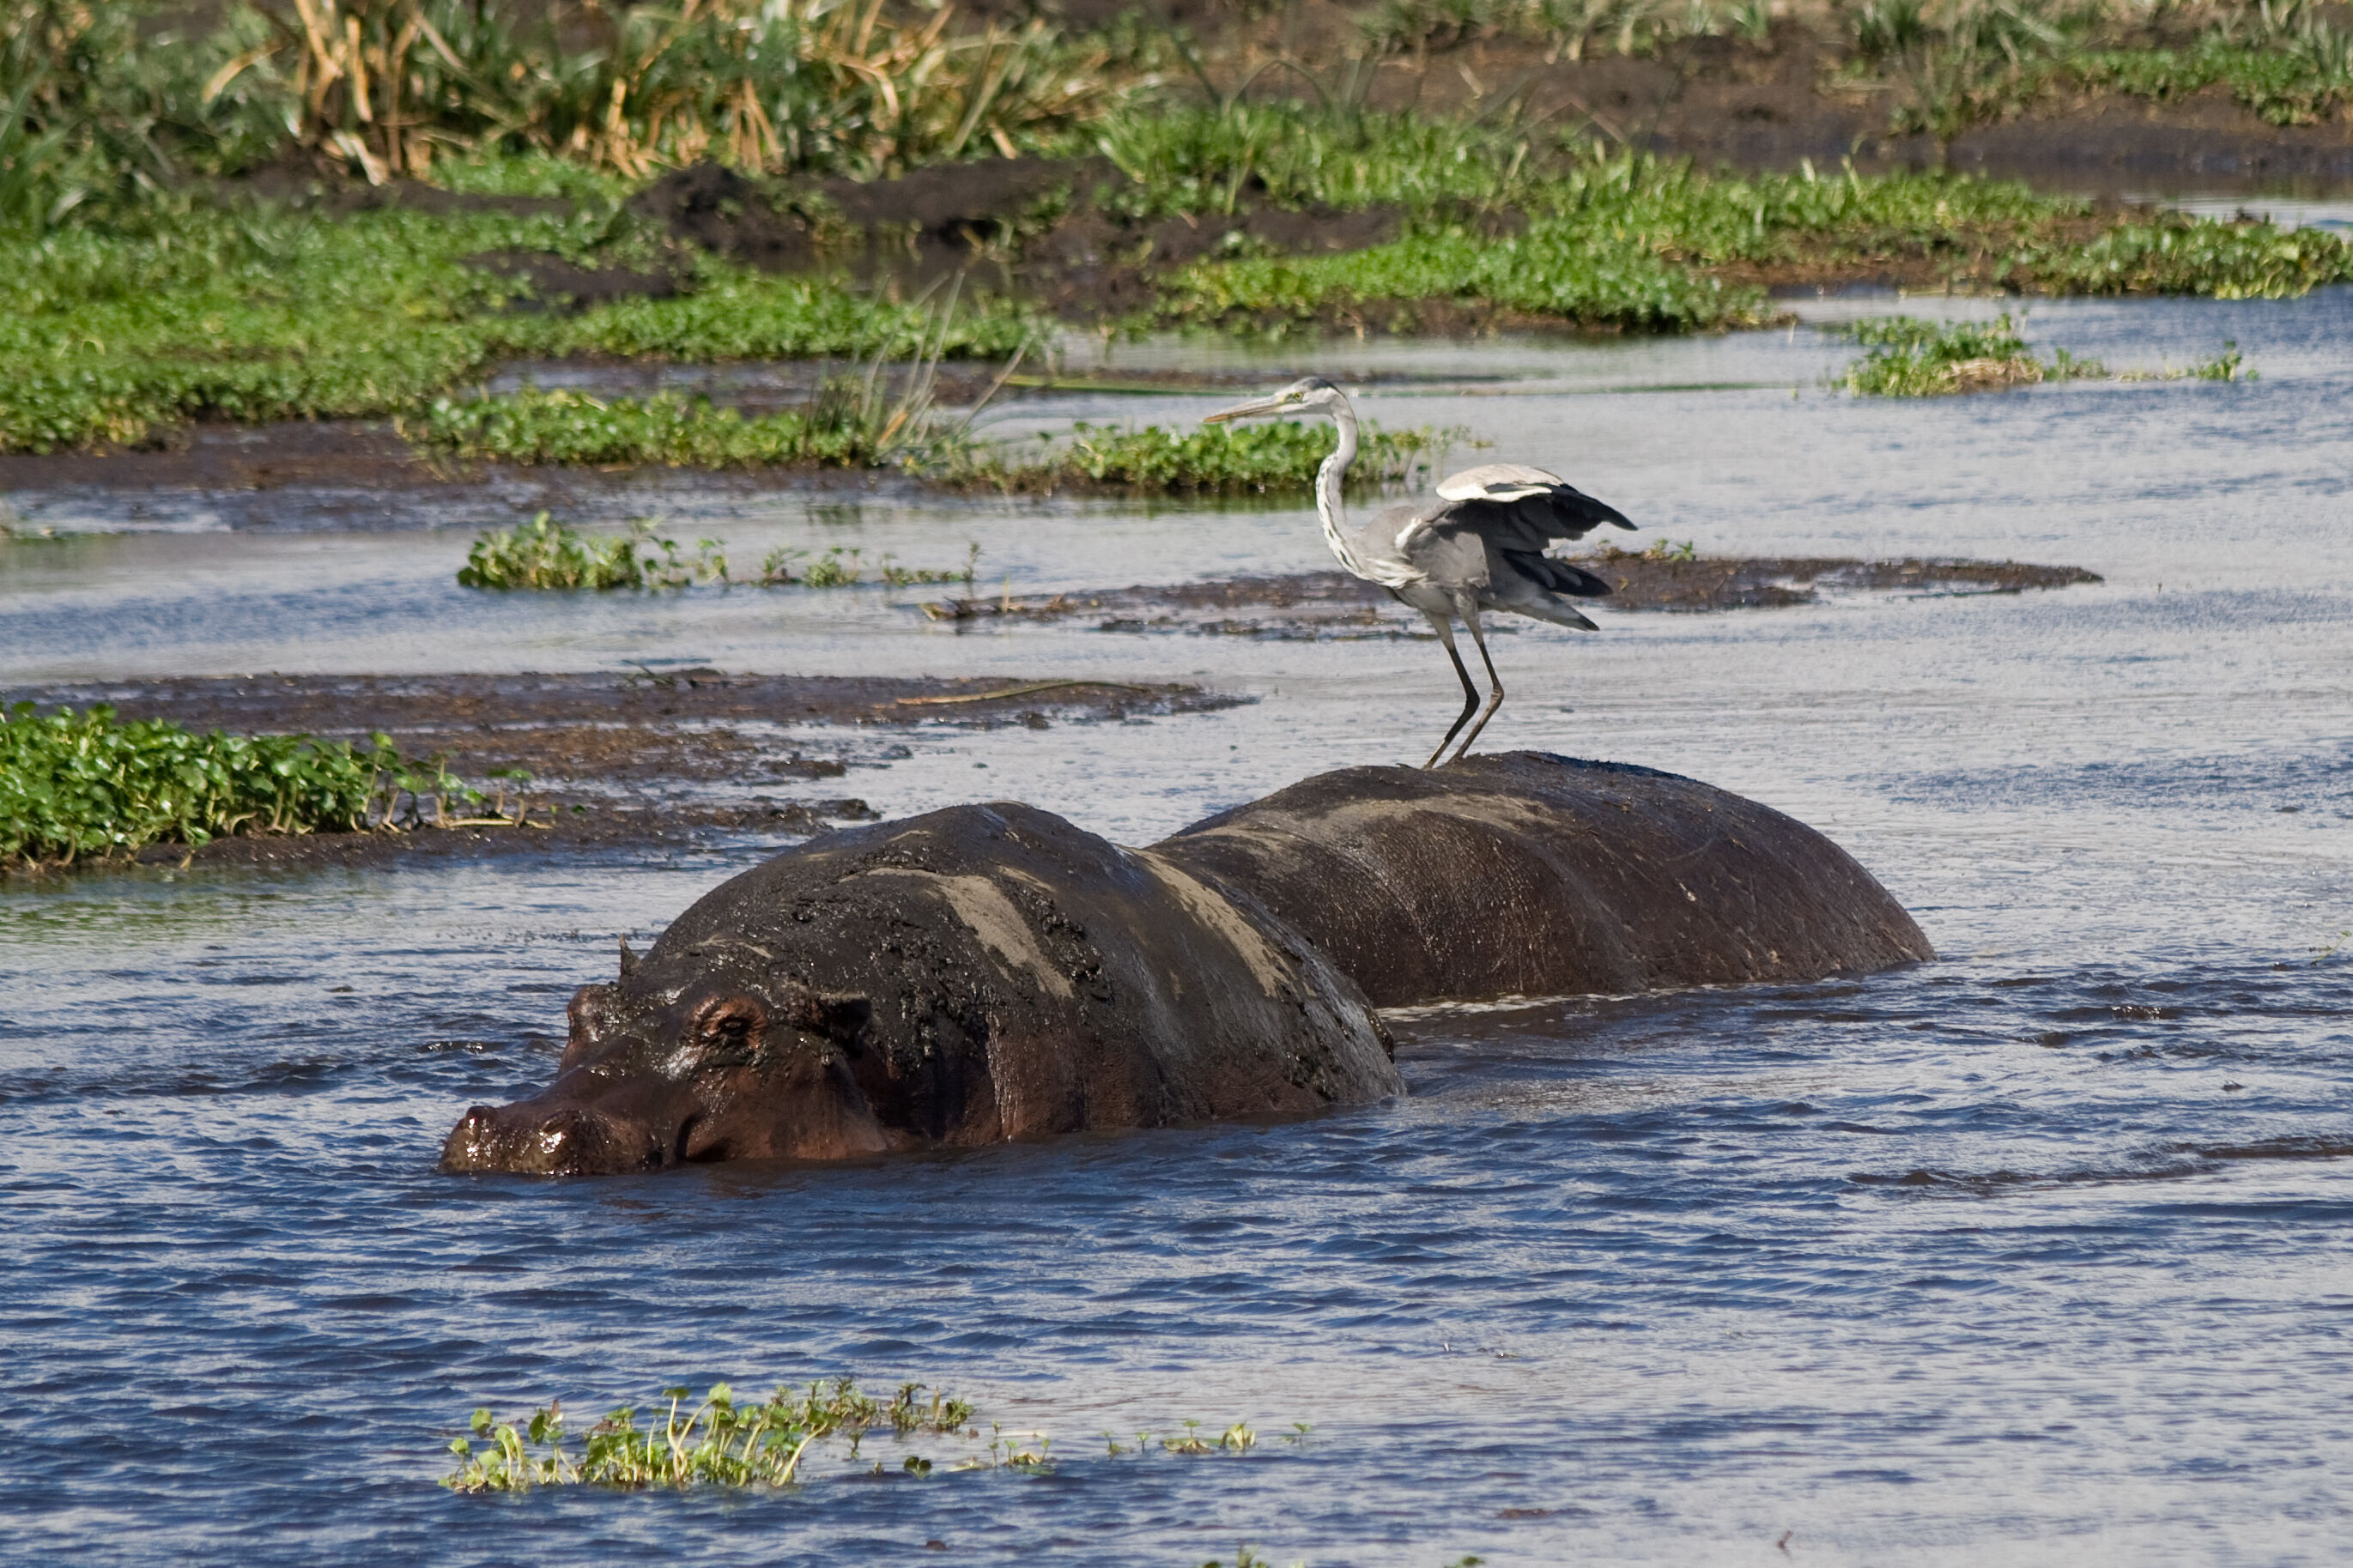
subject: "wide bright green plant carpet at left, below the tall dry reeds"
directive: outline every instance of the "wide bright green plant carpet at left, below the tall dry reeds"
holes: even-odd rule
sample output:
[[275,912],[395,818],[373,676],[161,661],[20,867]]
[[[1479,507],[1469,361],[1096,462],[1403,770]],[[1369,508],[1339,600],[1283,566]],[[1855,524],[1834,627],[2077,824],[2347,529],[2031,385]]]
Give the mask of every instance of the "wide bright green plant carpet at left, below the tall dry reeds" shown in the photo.
[[[0,451],[136,444],[191,418],[419,416],[504,357],[936,360],[1012,353],[1035,334],[1005,301],[941,313],[715,259],[692,263],[699,292],[680,299],[518,313],[518,284],[461,263],[499,249],[600,261],[614,214],[595,209],[148,216],[139,233],[0,240]],[[802,444],[828,449],[838,414]]]

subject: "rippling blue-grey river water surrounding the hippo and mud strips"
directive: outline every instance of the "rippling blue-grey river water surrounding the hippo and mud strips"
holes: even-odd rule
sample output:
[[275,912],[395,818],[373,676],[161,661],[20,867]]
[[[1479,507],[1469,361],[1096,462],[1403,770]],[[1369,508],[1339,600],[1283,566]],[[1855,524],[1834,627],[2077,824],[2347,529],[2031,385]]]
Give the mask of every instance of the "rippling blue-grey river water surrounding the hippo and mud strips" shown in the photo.
[[[1174,1566],[1238,1542],[1417,1568],[2337,1561],[2348,327],[2344,292],[2035,306],[2042,343],[2186,364],[2235,339],[2261,381],[1939,404],[1821,393],[1842,350],[1805,329],[1261,355],[1268,376],[1369,376],[1369,416],[1471,425],[1708,552],[2106,576],[1499,637],[1497,748],[1786,809],[1944,957],[1409,1013],[1398,1105],[856,1168],[452,1180],[442,1133],[548,1077],[562,999],[607,973],[614,931],[642,945],[760,849],[9,886],[0,1544],[139,1563]],[[1115,364],[1146,357],[1212,355]],[[929,562],[979,538],[1016,590],[1320,564],[1287,508],[699,505],[682,531],[739,555]],[[882,590],[489,599],[449,583],[466,538],[7,545],[0,677],[689,658],[1257,696],[854,752],[847,783],[887,813],[1019,795],[1127,842],[1419,757],[1454,705],[1428,642],[953,630]],[[984,1432],[1052,1434],[1056,1465],[948,1474],[974,1446],[922,1439],[927,1481],[880,1441],[864,1458],[892,1479],[835,1453],[788,1495],[433,1486],[475,1403],[591,1413],[673,1380],[838,1371],[946,1385]],[[1136,1458],[1096,1436],[1186,1418],[1249,1420],[1261,1448]],[[1292,1422],[1313,1425],[1304,1446],[1275,1441]]]

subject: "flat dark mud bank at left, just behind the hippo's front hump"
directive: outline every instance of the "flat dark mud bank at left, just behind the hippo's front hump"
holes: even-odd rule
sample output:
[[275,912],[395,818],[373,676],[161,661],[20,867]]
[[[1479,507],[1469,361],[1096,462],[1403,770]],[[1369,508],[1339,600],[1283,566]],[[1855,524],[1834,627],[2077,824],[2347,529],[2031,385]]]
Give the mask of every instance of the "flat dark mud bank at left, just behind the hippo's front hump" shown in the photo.
[[[873,820],[864,799],[824,790],[852,766],[859,733],[1104,724],[1132,715],[1233,708],[1242,698],[1181,684],[885,679],[661,670],[626,675],[252,675],[139,679],[0,691],[42,708],[111,703],[122,719],[195,731],[393,738],[407,757],[440,757],[489,797],[499,823],[407,832],[313,832],[216,839],[191,851],[153,844],[141,863],[388,865],[405,856],[496,856],[685,844],[725,835],[809,837]],[[492,773],[520,769],[499,788]],[[814,788],[812,788],[814,785]],[[454,813],[454,809],[452,809]]]

